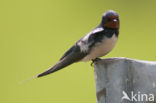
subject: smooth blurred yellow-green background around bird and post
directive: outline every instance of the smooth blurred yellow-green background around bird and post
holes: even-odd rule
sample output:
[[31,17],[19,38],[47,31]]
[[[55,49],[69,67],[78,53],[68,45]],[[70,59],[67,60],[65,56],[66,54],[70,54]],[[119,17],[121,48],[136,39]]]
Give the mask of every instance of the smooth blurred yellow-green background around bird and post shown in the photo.
[[155,61],[155,4],[155,0],[0,0],[0,103],[95,103],[91,62],[19,82],[56,63],[109,9],[120,16],[120,36],[104,58]]

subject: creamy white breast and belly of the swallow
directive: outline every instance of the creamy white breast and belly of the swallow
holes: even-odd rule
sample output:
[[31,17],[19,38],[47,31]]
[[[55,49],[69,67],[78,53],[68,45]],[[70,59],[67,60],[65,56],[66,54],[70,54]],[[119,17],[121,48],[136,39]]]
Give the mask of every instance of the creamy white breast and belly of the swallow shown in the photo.
[[111,38],[105,37],[102,40],[102,42],[95,44],[90,54],[84,57],[82,61],[86,62],[86,61],[106,55],[113,49],[113,47],[115,46],[117,42],[117,39],[118,38],[116,37],[115,34]]

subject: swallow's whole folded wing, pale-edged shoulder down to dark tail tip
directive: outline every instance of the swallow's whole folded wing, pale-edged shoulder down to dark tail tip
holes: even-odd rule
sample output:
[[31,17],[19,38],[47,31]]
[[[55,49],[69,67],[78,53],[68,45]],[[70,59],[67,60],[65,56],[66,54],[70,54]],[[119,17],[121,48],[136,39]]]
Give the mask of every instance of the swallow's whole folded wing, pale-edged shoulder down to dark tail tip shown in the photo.
[[90,51],[90,45],[93,45],[97,38],[100,38],[102,28],[96,28],[86,36],[81,38],[74,46],[72,46],[62,58],[50,69],[39,74],[37,77],[41,77],[53,72],[56,72],[74,62],[82,60]]

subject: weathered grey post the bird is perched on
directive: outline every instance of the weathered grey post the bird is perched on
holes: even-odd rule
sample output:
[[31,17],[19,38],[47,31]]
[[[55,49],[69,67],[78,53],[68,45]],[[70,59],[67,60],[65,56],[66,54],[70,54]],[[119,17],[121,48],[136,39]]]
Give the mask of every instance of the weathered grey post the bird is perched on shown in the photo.
[[156,103],[156,62],[108,58],[94,68],[97,103]]

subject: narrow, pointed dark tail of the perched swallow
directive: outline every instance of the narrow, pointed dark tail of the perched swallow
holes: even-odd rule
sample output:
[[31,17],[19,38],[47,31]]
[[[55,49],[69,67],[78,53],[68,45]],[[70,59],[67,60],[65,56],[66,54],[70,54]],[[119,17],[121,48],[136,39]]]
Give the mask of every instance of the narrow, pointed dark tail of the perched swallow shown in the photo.
[[66,61],[66,60],[60,60],[58,63],[56,63],[54,66],[52,66],[50,69],[48,69],[47,71],[37,75],[37,77],[42,77],[45,75],[48,75],[50,73],[56,72],[60,69],[63,69],[64,67],[68,66],[72,64],[72,62]]

